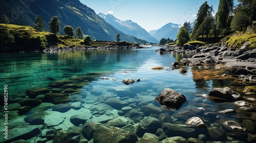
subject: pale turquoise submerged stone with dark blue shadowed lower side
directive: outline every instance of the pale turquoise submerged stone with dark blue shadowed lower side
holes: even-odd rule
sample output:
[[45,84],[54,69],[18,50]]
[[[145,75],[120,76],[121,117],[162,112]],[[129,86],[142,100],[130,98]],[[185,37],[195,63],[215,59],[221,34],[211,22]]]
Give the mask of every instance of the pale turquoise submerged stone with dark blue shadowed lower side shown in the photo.
[[90,113],[90,111],[82,112],[79,114],[72,115],[70,117],[70,122],[72,124],[74,124],[75,126],[79,126],[80,124],[82,124],[82,125],[85,124],[86,121],[92,117],[93,117],[93,115]]

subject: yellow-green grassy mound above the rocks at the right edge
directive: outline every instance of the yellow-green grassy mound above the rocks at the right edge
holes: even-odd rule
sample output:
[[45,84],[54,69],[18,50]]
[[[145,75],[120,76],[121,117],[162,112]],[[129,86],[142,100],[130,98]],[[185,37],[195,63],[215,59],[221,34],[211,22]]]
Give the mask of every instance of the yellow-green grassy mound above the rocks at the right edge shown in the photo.
[[229,39],[225,42],[228,47],[233,47],[238,49],[244,43],[251,43],[249,46],[250,49],[256,48],[256,34],[252,33],[244,33],[244,32],[237,32],[232,34]]

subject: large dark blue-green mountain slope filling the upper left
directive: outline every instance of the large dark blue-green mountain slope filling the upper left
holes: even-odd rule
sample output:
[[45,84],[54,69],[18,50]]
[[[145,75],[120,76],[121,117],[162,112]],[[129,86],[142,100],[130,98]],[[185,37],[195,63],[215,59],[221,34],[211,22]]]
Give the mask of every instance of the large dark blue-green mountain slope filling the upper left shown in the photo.
[[74,31],[80,27],[84,35],[92,39],[115,41],[120,34],[122,41],[136,42],[131,36],[124,34],[99,17],[93,9],[80,3],[79,0],[37,0],[37,1],[0,1],[0,15],[6,14],[10,23],[15,25],[35,25],[35,17],[41,15],[45,21],[44,30],[49,31],[49,21],[58,16],[60,33],[66,25]]

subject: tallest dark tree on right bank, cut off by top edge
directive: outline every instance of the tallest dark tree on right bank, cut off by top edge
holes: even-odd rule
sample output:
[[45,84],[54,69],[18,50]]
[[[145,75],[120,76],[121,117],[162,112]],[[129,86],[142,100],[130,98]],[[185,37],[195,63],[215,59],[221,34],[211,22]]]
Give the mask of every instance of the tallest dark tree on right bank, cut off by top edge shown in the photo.
[[233,0],[220,0],[218,12],[216,13],[216,27],[219,31],[222,31],[228,26],[228,17],[233,12]]

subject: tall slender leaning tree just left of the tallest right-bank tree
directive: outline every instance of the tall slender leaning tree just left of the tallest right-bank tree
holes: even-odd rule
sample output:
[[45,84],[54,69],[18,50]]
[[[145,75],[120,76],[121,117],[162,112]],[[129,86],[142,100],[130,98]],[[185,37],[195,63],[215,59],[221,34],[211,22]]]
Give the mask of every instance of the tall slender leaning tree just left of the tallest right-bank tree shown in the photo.
[[197,13],[197,20],[195,23],[194,30],[192,32],[192,36],[196,37],[195,34],[204,21],[205,18],[212,16],[212,11],[214,11],[213,6],[209,6],[207,2],[200,6],[198,13]]

